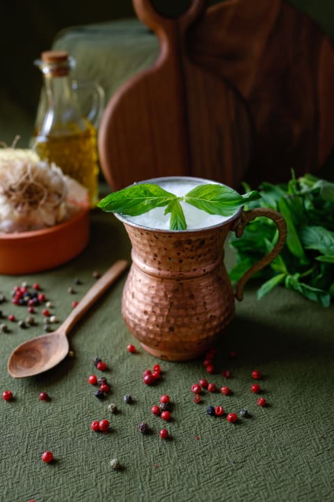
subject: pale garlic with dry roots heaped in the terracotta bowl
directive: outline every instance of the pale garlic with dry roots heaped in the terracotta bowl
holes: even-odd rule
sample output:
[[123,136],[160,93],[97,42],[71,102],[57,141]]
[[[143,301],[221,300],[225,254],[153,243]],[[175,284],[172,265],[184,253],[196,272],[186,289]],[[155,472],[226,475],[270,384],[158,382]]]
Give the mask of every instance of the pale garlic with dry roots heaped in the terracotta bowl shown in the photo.
[[35,151],[0,149],[0,232],[52,227],[87,201],[86,188]]

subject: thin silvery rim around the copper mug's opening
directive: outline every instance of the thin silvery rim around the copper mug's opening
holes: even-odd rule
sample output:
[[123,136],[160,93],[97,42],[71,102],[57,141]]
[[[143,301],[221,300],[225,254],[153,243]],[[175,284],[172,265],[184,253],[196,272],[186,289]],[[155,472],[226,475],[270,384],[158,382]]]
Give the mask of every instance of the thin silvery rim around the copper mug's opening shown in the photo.
[[[136,181],[135,183],[132,183],[131,185],[128,186],[134,186],[134,185],[139,185],[141,183],[154,183],[155,185],[158,185],[158,182],[164,182],[164,181],[177,181],[177,180],[182,180],[182,181],[199,181],[199,184],[206,185],[209,183],[213,183],[214,185],[223,185],[225,187],[231,188],[228,185],[225,185],[225,183],[218,183],[218,181],[213,181],[209,180],[207,178],[198,178],[197,176],[160,176],[158,178],[149,178],[147,180],[143,181]],[[228,225],[230,222],[236,220],[240,213],[241,213],[242,208],[238,208],[235,213],[233,213],[231,216],[226,218],[221,223],[216,223],[216,225],[209,225],[207,227],[198,227],[194,229],[186,229],[186,230],[170,230],[170,229],[160,229],[160,228],[155,228],[155,227],[146,227],[145,225],[140,225],[136,222],[132,222],[131,220],[128,220],[125,216],[123,216],[121,213],[113,213],[118,220],[120,220],[122,223],[129,225],[130,227],[134,228],[142,228],[143,230],[151,230],[151,231],[159,231],[164,234],[193,234],[193,232],[198,232],[198,231],[206,231],[218,227],[222,227],[223,225]],[[209,214],[209,213],[208,213]]]

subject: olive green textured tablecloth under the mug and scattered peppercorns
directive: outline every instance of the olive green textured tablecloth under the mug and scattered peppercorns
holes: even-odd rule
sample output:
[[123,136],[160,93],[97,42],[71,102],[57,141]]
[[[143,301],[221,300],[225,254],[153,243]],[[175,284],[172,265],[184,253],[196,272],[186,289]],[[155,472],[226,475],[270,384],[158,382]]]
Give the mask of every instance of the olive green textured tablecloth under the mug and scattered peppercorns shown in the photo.
[[[113,215],[92,211],[88,248],[70,263],[52,271],[1,276],[0,291],[8,300],[15,284],[39,282],[63,321],[95,282],[93,272],[104,272],[120,257],[129,258],[129,241]],[[66,243],[64,243],[66,245]],[[228,265],[232,264],[228,253]],[[79,278],[81,285],[74,285]],[[38,326],[25,330],[17,322],[1,333],[1,394],[9,389],[15,400],[1,400],[0,500],[3,502],[97,501],[333,501],[333,306],[324,310],[293,291],[279,287],[261,301],[256,284],[246,288],[232,324],[217,345],[216,372],[207,375],[202,359],[166,363],[145,353],[127,330],[120,312],[125,275],[104,294],[70,335],[73,357],[54,370],[29,379],[12,379],[6,360],[20,342],[43,333],[42,307]],[[74,287],[76,293],[67,289]],[[26,307],[10,301],[3,315],[26,317]],[[127,352],[132,342],[138,353]],[[237,357],[230,358],[230,351]],[[93,358],[106,361],[111,393],[105,401],[94,396],[87,379],[95,369]],[[143,370],[155,363],[162,377],[145,386]],[[250,392],[251,372],[263,374],[260,385],[268,405],[257,406]],[[226,379],[222,370],[230,370]],[[191,385],[208,377],[217,388],[233,393],[202,393],[194,404]],[[41,402],[40,392],[51,400]],[[173,420],[163,423],[150,409],[167,393],[174,403]],[[123,397],[131,394],[134,403]],[[107,404],[114,402],[113,415]],[[230,424],[207,415],[208,405],[222,404],[250,418]],[[95,419],[111,421],[109,434],[95,433]],[[151,433],[140,434],[146,421]],[[170,439],[160,439],[166,427]],[[44,464],[45,450],[54,462]],[[117,457],[121,469],[111,469]]]

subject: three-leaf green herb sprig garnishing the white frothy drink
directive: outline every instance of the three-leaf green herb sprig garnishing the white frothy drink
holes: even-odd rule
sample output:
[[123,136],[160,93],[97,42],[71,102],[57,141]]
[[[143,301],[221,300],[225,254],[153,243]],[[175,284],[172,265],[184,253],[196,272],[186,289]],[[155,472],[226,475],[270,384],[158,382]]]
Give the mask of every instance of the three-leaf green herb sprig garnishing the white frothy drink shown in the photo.
[[186,218],[180,201],[211,215],[231,216],[246,202],[259,197],[256,190],[239,195],[233,188],[213,183],[198,185],[183,197],[177,197],[154,183],[137,183],[107,195],[97,206],[103,211],[129,216],[166,206],[165,214],[170,213],[170,230],[186,230]]

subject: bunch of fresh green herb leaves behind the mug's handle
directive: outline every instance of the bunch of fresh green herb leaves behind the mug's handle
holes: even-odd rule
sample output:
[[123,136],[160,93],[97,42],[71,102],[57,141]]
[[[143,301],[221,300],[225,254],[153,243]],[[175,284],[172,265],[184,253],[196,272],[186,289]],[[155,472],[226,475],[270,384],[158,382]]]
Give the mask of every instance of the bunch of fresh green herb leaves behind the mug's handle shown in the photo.
[[[244,184],[246,190],[248,185]],[[287,223],[287,243],[271,264],[258,272],[265,282],[257,290],[262,298],[278,284],[298,291],[323,307],[334,297],[334,183],[311,174],[286,184],[262,183],[261,198],[245,207],[269,207],[279,211]],[[230,238],[237,264],[230,279],[241,275],[273,248],[278,238],[276,225],[269,218],[249,222],[242,238]]]

